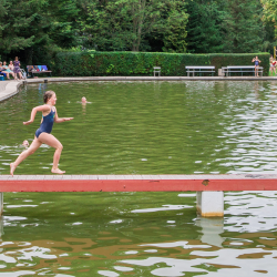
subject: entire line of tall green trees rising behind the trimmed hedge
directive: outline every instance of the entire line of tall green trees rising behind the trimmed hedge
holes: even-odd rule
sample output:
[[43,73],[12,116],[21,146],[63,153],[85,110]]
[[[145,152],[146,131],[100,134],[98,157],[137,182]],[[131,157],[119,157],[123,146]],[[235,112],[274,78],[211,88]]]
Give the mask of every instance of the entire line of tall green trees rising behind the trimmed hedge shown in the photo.
[[42,63],[58,51],[273,51],[276,0],[1,0],[0,55]]

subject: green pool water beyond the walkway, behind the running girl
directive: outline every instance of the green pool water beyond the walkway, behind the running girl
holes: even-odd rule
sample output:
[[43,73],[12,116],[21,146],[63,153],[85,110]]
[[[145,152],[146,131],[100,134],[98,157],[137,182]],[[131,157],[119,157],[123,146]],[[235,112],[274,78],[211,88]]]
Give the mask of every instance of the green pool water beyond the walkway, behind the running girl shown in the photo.
[[[68,174],[194,174],[276,168],[276,85],[269,82],[88,82],[29,85],[1,103],[2,160],[33,140],[45,90],[57,92],[52,134]],[[86,105],[80,103],[86,96]],[[17,174],[51,174],[53,150],[41,147]],[[1,174],[8,173],[6,163]]]

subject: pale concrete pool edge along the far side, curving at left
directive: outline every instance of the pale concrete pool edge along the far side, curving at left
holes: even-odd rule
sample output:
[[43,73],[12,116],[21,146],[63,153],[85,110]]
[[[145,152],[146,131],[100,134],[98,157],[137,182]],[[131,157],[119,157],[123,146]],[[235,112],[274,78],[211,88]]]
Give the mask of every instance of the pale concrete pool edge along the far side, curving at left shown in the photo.
[[18,93],[20,85],[44,82],[81,81],[277,81],[277,76],[72,76],[72,78],[34,78],[25,81],[0,81],[0,102]]

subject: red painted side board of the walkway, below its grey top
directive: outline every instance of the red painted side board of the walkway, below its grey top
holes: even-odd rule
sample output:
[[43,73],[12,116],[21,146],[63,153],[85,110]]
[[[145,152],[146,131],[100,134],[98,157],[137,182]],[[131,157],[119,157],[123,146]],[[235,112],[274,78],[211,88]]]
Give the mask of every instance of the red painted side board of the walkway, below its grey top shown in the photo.
[[276,178],[248,179],[1,179],[0,192],[277,191]]

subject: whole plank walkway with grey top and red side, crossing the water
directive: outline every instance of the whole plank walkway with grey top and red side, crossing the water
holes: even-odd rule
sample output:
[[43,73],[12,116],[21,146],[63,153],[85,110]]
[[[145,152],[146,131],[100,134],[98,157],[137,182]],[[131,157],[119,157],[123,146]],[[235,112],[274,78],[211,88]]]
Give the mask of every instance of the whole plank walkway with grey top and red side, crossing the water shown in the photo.
[[0,192],[277,191],[277,174],[0,175]]

